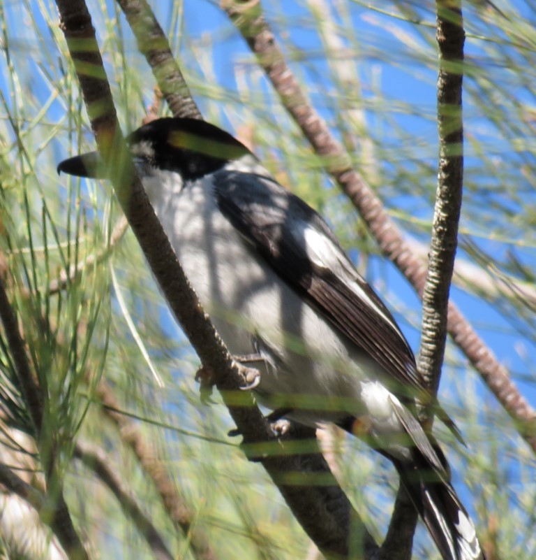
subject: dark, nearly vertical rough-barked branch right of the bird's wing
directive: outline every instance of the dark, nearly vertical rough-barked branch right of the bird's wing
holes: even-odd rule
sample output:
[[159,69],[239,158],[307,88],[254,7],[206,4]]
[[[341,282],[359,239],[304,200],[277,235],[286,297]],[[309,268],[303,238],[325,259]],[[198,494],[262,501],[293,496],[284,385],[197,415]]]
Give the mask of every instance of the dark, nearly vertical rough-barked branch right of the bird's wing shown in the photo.
[[417,367],[435,394],[445,345],[447,310],[463,188],[463,120],[461,94],[465,33],[461,1],[438,0],[439,169],[435,193],[428,273],[422,294],[421,349]]

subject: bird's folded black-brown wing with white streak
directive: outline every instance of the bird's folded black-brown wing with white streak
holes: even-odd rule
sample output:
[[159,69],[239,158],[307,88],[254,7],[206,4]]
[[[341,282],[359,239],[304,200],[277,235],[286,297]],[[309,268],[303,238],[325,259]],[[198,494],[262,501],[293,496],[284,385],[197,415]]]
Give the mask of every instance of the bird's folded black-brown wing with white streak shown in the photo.
[[214,185],[223,215],[288,285],[396,379],[394,394],[405,400],[426,392],[391,313],[313,208],[261,175],[221,171]]

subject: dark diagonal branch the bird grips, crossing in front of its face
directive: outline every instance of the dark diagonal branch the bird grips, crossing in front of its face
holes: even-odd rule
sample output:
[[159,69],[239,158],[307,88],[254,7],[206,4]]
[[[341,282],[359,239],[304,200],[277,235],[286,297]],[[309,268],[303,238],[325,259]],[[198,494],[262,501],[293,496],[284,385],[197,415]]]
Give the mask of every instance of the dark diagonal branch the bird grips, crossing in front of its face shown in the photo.
[[[114,192],[170,308],[202,364],[217,372],[216,386],[244,441],[270,444],[269,455],[261,455],[255,448],[254,452],[260,456],[263,466],[309,536],[327,556],[348,556],[351,511],[348,498],[336,484],[318,447],[311,454],[285,454],[292,442],[276,440],[254,405],[251,394],[239,390],[244,385],[240,368],[232,361],[188,285],[124,145],[87,7],[82,0],[57,0],[57,6],[98,150],[107,168],[114,171],[111,178]],[[311,430],[302,431],[301,436],[311,438]],[[323,484],[311,484],[305,491],[303,480],[296,482],[297,472],[314,473],[315,477],[320,473]],[[357,514],[352,515],[352,524],[359,525],[357,532],[362,536],[367,554],[371,554],[375,550],[373,538],[357,519]]]

